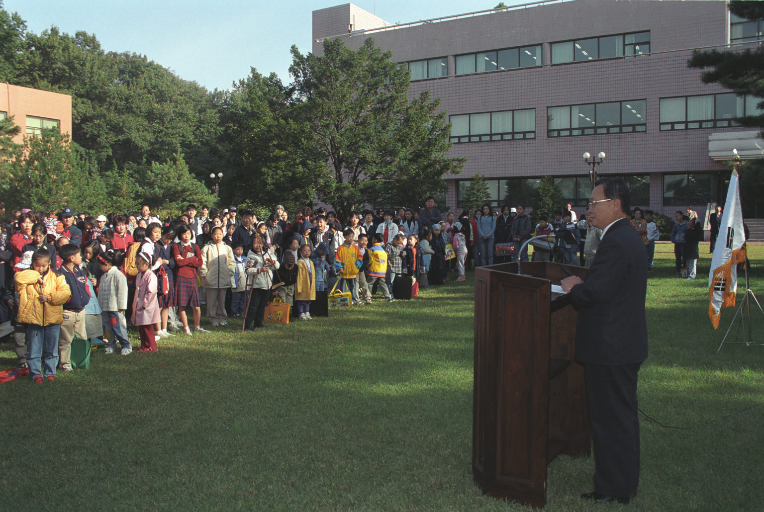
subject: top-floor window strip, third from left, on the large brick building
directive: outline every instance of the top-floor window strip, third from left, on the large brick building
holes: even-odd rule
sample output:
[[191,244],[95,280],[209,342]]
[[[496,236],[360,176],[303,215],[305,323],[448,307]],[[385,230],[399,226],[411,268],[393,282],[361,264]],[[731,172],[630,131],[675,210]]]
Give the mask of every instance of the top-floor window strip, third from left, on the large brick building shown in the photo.
[[552,43],[552,64],[650,53],[650,33],[617,34]]

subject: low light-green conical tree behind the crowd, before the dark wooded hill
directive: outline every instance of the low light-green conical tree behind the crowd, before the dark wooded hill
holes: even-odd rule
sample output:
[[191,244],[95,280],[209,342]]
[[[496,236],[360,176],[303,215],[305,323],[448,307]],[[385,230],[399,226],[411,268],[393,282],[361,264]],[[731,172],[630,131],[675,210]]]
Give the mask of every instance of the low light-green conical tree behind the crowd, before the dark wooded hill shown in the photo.
[[138,189],[143,204],[152,208],[180,211],[189,203],[214,204],[215,196],[196,179],[183,159],[175,153],[164,163],[152,162],[151,167],[138,175]]

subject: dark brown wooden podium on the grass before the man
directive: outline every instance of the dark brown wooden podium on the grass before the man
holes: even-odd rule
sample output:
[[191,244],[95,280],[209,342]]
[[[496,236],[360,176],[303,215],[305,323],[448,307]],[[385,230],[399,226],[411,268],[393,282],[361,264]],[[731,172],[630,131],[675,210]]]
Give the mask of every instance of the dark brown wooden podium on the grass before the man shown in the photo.
[[578,313],[551,291],[567,274],[551,262],[520,271],[475,270],[472,473],[486,494],[543,507],[547,464],[589,455],[586,388],[574,359]]

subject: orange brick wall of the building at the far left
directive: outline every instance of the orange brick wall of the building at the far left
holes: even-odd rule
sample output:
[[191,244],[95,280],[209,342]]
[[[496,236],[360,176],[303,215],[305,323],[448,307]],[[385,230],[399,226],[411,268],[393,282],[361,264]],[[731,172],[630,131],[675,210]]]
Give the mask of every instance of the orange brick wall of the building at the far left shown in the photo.
[[56,119],[60,121],[62,134],[72,134],[72,97],[58,92],[41,91],[0,83],[0,111],[8,117],[14,116],[15,124],[21,127],[21,134],[14,142],[21,143],[27,134],[27,116]]

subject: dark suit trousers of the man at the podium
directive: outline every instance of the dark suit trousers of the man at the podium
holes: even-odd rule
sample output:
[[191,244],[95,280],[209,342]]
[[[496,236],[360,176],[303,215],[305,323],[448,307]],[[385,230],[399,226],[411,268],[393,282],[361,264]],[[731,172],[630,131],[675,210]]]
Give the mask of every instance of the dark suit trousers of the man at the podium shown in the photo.
[[636,376],[640,365],[584,364],[594,441],[594,491],[614,498],[636,496],[639,485]]

